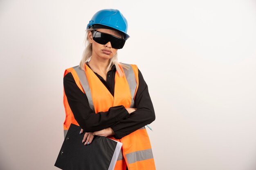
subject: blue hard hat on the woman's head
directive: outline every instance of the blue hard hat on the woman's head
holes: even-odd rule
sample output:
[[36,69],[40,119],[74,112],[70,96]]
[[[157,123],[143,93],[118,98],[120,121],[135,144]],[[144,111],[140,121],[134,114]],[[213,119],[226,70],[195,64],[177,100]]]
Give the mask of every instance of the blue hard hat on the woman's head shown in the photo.
[[[128,22],[123,14],[120,13],[117,9],[103,9],[98,11],[92,16],[89,24],[87,24],[87,28],[100,28],[99,25],[107,26],[110,29],[121,31],[124,33],[124,39],[128,39],[130,36],[127,34]],[[102,27],[106,28],[106,27]]]

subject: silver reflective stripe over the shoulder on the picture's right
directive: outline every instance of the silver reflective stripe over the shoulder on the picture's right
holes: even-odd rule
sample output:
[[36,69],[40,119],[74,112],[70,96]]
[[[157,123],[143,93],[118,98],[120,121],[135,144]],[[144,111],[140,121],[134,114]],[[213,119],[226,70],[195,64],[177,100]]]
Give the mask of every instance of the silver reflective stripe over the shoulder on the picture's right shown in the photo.
[[130,107],[134,107],[134,96],[135,96],[135,90],[137,87],[137,82],[136,82],[136,78],[135,78],[135,73],[132,69],[132,66],[130,64],[125,64],[122,63],[124,65],[129,66],[129,70],[123,69],[124,70],[124,74],[126,76],[126,80],[128,82],[129,88],[130,88],[130,92],[131,92],[131,96],[132,96],[132,101],[131,101],[131,105]]

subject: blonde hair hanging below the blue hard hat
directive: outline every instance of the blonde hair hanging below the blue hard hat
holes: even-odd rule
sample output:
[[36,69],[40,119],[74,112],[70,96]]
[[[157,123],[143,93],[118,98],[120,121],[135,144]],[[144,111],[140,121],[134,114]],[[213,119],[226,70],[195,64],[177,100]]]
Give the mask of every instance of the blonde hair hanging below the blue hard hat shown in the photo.
[[[88,41],[88,35],[89,35],[89,31],[94,30],[93,28],[89,28],[86,30],[86,34],[85,34],[85,39],[84,39],[84,44],[85,44],[85,49],[83,50],[83,55],[82,55],[82,59],[79,63],[79,66],[82,70],[84,70],[84,66],[85,66],[85,62],[88,61],[89,59],[91,59],[92,57],[92,43],[89,43]],[[129,69],[130,67],[127,65],[124,65],[122,63],[119,63],[117,61],[117,53],[112,57],[112,59],[110,59],[109,65],[107,67],[107,70],[109,70],[112,65],[116,66],[117,69],[117,73],[119,74],[119,76],[124,76],[123,72],[121,71],[121,69],[119,68],[119,65],[123,68],[123,69]]]

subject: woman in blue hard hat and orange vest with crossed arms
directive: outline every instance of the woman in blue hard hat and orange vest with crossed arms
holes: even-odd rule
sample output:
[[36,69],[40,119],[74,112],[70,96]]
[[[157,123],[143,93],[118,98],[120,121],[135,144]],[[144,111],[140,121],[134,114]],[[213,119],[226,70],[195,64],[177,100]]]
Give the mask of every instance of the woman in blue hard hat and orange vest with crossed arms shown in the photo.
[[128,38],[127,20],[120,11],[94,14],[80,65],[65,70],[64,131],[71,123],[81,126],[85,145],[94,135],[122,142],[115,170],[154,170],[145,129],[155,120],[148,86],[136,65],[117,61],[117,50]]

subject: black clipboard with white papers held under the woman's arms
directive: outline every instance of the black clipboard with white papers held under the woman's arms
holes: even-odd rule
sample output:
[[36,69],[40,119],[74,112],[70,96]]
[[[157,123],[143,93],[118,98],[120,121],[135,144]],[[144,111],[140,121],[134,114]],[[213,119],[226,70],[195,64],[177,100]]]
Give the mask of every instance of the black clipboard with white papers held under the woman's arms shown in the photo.
[[84,145],[80,131],[80,126],[70,125],[54,166],[62,170],[113,170],[121,142],[94,136],[91,144]]

